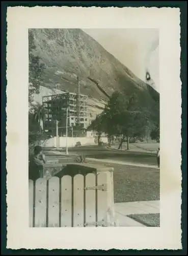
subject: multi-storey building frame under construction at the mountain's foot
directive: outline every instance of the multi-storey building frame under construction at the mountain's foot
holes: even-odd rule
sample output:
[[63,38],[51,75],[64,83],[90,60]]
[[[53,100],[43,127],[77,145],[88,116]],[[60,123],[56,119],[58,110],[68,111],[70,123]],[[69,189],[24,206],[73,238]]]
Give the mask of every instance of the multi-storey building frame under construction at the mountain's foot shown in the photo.
[[[68,126],[79,126],[87,129],[90,124],[87,112],[88,96],[65,92],[42,97],[43,108],[46,110],[45,130],[56,132],[56,121],[62,129],[66,127],[66,116],[68,109]],[[63,131],[63,130],[62,130]]]

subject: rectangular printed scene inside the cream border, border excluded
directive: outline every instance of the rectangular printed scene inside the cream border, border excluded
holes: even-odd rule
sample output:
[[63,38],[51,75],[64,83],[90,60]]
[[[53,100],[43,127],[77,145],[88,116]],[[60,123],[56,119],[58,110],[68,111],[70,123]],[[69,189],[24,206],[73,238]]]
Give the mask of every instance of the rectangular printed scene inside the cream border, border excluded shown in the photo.
[[28,36],[30,227],[159,227],[158,30]]

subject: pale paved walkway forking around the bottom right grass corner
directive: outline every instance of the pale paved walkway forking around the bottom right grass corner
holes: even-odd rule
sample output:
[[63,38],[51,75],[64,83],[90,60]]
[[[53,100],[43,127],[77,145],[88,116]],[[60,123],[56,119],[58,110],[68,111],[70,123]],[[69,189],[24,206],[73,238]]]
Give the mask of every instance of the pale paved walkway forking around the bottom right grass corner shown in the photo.
[[130,214],[159,214],[160,201],[115,203],[115,221],[120,227],[145,227],[127,217]]

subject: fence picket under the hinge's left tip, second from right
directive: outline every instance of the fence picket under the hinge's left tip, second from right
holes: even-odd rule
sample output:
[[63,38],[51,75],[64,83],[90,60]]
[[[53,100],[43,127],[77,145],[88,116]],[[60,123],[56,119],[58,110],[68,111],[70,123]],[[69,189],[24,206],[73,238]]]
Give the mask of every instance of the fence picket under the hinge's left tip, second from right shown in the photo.
[[[95,174],[86,175],[86,187],[95,187]],[[86,227],[94,227],[96,222],[95,189],[86,189]],[[93,223],[93,224],[92,224]]]

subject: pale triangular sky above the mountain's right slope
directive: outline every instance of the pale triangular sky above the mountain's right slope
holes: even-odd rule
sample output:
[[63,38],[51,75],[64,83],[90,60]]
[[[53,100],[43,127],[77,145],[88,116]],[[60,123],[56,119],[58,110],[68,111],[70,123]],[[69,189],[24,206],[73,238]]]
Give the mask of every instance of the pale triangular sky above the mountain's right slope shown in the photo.
[[135,75],[159,92],[158,29],[83,29]]

